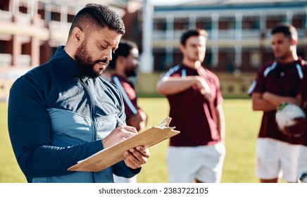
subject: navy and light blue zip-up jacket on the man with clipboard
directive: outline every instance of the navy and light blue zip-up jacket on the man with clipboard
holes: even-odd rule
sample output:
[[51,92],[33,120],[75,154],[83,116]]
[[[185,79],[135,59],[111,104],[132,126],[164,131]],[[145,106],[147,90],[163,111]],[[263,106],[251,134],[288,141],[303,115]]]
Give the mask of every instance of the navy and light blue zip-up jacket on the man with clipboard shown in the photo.
[[101,172],[68,167],[101,151],[101,139],[125,122],[115,85],[80,77],[77,64],[59,46],[48,63],[16,80],[8,100],[8,132],[28,182],[113,182],[113,174],[133,177],[123,161]]

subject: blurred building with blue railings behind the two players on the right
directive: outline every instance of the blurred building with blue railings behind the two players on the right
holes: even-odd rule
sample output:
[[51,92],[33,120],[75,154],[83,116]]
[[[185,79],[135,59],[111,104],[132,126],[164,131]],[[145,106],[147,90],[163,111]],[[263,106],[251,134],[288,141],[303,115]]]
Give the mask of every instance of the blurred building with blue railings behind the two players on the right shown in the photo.
[[[259,66],[274,58],[270,31],[278,23],[297,28],[297,53],[307,58],[306,13],[307,1],[289,0],[202,0],[152,6],[149,13],[140,10],[139,24],[143,24],[146,15],[153,20],[151,31],[139,29],[140,35],[151,35],[147,39],[151,39],[153,64],[143,61],[143,67],[151,66],[143,70],[161,73],[180,63],[182,30],[203,28],[209,34],[203,65],[218,73],[224,95],[246,95]],[[149,80],[149,74],[144,74],[144,79]],[[146,91],[148,84],[140,83],[139,89]]]

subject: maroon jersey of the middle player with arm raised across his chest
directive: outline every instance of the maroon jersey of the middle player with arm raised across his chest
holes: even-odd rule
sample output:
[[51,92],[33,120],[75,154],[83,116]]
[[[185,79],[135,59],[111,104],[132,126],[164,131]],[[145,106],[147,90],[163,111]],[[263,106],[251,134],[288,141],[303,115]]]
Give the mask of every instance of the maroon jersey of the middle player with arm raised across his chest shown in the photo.
[[220,141],[215,107],[223,102],[218,77],[205,68],[194,70],[183,64],[170,68],[163,77],[186,77],[200,75],[211,88],[210,102],[191,87],[177,94],[168,95],[170,103],[170,126],[180,131],[170,138],[170,146],[206,146]]

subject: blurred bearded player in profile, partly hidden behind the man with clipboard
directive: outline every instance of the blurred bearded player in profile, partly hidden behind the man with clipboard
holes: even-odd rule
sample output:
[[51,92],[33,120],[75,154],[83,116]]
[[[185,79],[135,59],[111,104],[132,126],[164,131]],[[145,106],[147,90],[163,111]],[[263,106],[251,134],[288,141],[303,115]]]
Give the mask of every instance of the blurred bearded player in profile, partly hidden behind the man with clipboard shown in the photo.
[[[109,68],[112,69],[111,82],[115,84],[123,96],[127,125],[135,127],[137,131],[146,126],[146,114],[137,106],[137,94],[134,84],[129,81],[130,77],[137,77],[139,65],[139,50],[137,44],[127,40],[121,40],[110,61]],[[114,176],[114,182],[135,183],[137,176],[130,179]]]

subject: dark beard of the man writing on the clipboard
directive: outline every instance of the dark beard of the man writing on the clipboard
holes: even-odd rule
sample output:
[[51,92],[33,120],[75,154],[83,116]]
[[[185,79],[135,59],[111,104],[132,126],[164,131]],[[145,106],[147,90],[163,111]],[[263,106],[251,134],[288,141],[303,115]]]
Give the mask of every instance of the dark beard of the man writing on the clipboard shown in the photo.
[[82,44],[77,48],[74,58],[75,62],[77,63],[77,67],[82,73],[82,77],[99,77],[101,75],[101,70],[94,70],[94,65],[100,62],[108,65],[107,59],[98,59],[93,61],[92,56],[90,56],[89,52],[87,51],[87,40],[84,40],[84,42],[82,42]]

